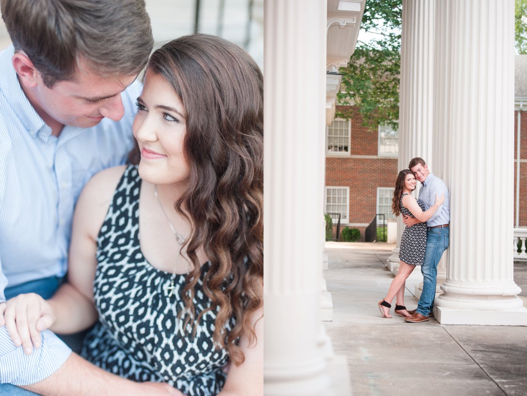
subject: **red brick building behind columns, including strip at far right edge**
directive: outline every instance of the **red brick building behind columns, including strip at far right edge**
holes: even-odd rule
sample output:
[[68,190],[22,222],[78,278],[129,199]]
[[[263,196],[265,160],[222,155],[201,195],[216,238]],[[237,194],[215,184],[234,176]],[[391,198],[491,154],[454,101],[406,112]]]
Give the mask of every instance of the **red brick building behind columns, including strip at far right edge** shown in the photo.
[[[527,227],[527,55],[515,56],[514,96],[514,131],[510,132],[514,133],[514,227],[523,228]],[[325,213],[339,213],[340,229],[358,228],[364,240],[364,230],[376,214],[394,217],[398,132],[382,126],[367,129],[357,109],[352,114],[349,120],[337,118],[326,127]],[[331,217],[335,226],[337,217]]]

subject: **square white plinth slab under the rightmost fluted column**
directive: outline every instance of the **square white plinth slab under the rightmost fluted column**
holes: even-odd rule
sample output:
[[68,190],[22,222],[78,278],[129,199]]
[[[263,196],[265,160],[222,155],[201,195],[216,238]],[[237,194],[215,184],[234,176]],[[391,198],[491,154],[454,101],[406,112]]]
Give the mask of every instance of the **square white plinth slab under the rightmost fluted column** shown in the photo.
[[527,326],[527,308],[509,311],[458,310],[434,305],[434,316],[441,324]]

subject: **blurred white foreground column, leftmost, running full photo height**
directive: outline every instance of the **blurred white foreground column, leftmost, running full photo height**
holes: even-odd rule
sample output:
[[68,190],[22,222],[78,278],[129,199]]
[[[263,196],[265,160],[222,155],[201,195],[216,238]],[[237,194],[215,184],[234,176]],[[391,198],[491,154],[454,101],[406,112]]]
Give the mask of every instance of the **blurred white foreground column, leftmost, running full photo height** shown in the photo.
[[320,323],[326,7],[265,2],[266,396],[330,394]]

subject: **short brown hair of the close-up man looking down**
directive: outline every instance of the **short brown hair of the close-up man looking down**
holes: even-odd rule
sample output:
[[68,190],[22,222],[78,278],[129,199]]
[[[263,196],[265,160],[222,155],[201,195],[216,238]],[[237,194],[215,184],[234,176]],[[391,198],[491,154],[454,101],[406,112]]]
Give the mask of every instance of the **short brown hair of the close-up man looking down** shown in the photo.
[[153,37],[144,0],[0,0],[15,51],[48,88],[70,80],[79,61],[104,77],[136,75]]

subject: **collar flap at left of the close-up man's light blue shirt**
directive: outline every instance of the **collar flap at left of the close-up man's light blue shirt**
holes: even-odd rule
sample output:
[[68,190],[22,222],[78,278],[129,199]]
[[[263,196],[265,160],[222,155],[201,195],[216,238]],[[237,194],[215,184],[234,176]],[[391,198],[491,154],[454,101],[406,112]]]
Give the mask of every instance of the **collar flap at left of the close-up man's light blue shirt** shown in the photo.
[[12,58],[15,53],[13,45],[0,53],[0,93],[3,94],[13,112],[32,137],[45,126],[44,120],[38,115],[27,99],[13,67]]

